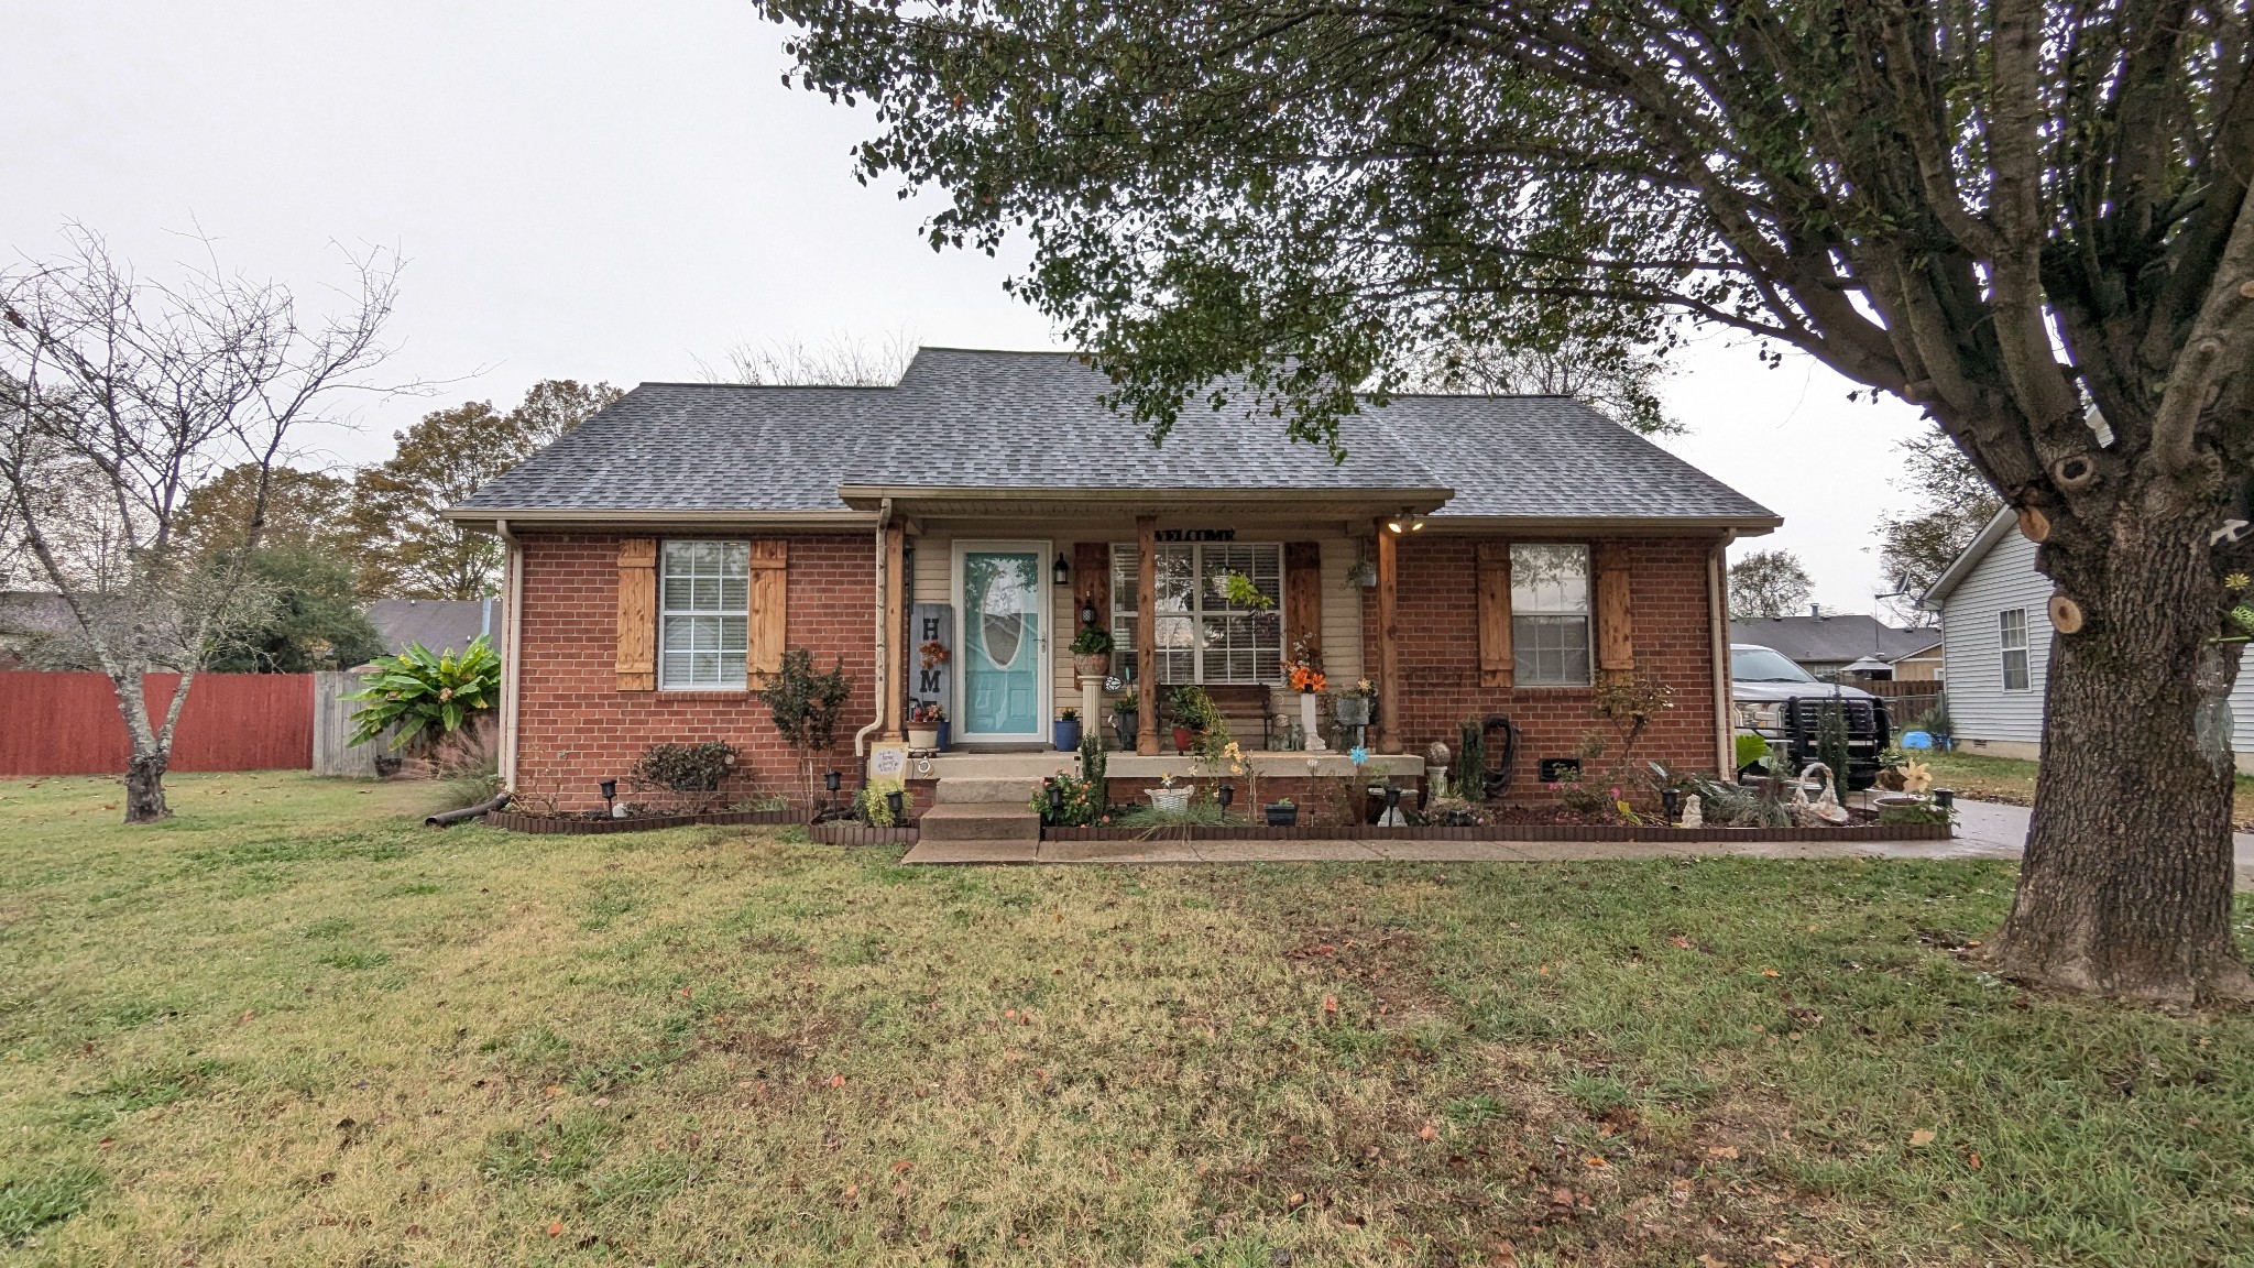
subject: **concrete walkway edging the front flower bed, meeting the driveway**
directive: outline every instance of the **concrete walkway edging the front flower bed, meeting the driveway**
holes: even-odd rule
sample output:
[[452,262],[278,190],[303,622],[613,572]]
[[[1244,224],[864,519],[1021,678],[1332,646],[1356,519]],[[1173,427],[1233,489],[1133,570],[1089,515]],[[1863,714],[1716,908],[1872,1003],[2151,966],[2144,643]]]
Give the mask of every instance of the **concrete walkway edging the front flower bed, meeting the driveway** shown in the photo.
[[[1190,864],[1190,862],[1571,862],[1648,857],[2020,857],[2024,805],[1959,801],[1950,842],[929,842],[913,864]],[[2254,835],[2234,837],[2238,889],[2254,889]]]

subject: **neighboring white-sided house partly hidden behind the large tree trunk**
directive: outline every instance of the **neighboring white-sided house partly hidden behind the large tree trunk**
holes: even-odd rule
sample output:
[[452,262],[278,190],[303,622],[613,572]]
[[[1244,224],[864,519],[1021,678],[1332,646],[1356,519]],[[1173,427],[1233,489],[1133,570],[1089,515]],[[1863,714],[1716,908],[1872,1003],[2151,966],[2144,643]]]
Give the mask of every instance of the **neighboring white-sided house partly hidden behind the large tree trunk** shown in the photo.
[[[2004,758],[2042,756],[2042,684],[2051,668],[2051,578],[2035,544],[1999,510],[1941,573],[1923,605],[1941,614],[1950,724],[1956,742]],[[2254,675],[2231,690],[2231,751],[2254,772]]]

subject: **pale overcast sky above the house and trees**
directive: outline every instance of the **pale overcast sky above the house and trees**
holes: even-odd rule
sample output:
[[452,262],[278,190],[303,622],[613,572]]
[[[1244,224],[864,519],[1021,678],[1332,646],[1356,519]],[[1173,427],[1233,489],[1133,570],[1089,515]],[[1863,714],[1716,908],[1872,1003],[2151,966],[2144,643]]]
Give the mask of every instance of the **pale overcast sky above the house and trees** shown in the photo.
[[[0,248],[83,221],[147,273],[201,255],[318,296],[340,250],[408,259],[403,377],[449,381],[322,435],[334,463],[458,399],[548,377],[694,379],[764,341],[904,334],[1057,347],[1001,291],[1012,259],[935,255],[924,210],[863,187],[868,113],[784,90],[751,5],[0,0]],[[1805,359],[1706,338],[1670,386],[1668,447],[1785,517],[1817,600],[1869,611],[1900,402],[1848,404]]]

